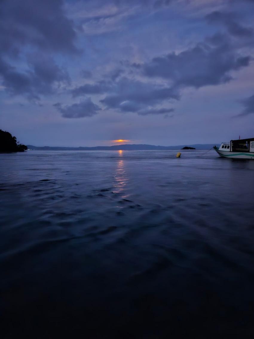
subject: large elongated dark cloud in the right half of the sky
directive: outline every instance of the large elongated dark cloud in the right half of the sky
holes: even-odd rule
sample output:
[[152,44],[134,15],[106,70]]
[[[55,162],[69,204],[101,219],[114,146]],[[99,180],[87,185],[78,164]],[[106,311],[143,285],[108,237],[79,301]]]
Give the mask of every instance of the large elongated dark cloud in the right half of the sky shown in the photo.
[[199,43],[179,54],[156,57],[142,68],[146,76],[171,80],[174,87],[199,88],[228,82],[229,72],[248,66],[250,59],[238,55],[228,44]]

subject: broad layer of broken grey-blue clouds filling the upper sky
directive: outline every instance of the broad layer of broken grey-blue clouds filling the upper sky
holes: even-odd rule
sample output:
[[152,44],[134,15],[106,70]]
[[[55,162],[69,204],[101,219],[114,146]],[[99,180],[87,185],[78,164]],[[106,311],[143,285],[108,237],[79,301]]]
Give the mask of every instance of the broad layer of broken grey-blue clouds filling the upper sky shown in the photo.
[[[177,114],[185,89],[228,84],[251,66],[252,3],[4,0],[2,91],[50,98],[64,118]],[[252,113],[251,98],[242,114]]]

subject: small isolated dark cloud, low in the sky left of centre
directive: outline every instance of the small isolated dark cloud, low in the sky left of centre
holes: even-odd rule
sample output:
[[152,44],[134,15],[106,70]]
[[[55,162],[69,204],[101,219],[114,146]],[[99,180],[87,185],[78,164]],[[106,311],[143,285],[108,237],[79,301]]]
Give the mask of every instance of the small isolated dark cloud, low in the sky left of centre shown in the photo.
[[101,110],[98,105],[94,104],[91,101],[91,98],[86,98],[80,103],[76,103],[73,105],[62,106],[62,104],[56,103],[54,104],[54,106],[58,109],[58,111],[62,114],[64,118],[92,117]]

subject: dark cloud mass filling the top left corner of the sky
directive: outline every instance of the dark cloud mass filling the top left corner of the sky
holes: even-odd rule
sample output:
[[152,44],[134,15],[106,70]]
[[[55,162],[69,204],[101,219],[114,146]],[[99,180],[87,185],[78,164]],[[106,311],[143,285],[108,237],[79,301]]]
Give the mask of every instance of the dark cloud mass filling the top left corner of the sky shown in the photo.
[[43,51],[77,53],[73,23],[63,11],[62,0],[1,1],[1,53],[17,55],[30,45]]

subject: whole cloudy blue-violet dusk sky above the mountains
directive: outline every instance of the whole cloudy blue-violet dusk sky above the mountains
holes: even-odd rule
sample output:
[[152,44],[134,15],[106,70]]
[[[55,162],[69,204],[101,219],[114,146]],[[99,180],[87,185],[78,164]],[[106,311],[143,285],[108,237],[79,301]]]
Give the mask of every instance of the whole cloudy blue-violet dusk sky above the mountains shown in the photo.
[[254,0],[2,0],[0,128],[35,146],[251,138],[253,19]]

